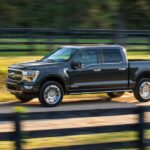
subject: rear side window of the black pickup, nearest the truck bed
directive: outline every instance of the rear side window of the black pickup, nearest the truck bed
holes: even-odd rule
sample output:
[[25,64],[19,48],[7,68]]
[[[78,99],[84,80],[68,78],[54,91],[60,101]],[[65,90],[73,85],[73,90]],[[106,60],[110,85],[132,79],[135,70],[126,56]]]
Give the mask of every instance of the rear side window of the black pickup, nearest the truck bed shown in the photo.
[[119,49],[102,49],[103,63],[119,63],[122,55]]

